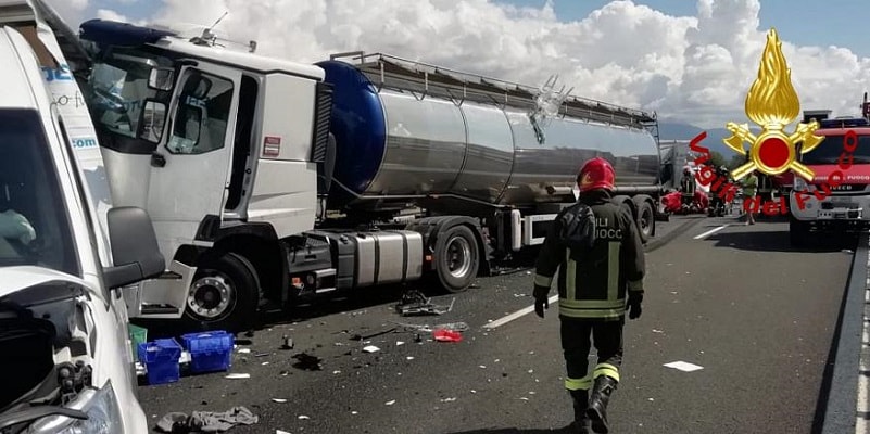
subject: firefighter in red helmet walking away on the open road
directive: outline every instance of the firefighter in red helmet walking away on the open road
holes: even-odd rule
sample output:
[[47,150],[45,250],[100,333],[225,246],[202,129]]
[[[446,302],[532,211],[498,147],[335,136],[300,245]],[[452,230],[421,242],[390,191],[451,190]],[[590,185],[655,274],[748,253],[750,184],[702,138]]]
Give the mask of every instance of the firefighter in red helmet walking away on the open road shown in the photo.
[[[608,431],[607,403],[619,383],[626,310],[630,319],[639,318],[643,302],[643,244],[631,213],[610,202],[614,179],[614,168],[604,158],[583,165],[577,176],[578,203],[594,214],[594,242],[584,252],[568,247],[566,227],[573,227],[569,215],[578,213],[578,205],[568,207],[552,225],[535,265],[534,310],[541,318],[559,271],[565,388],[573,400],[573,426],[579,433],[589,433],[590,427]],[[588,372],[590,334],[598,356],[592,372]]]

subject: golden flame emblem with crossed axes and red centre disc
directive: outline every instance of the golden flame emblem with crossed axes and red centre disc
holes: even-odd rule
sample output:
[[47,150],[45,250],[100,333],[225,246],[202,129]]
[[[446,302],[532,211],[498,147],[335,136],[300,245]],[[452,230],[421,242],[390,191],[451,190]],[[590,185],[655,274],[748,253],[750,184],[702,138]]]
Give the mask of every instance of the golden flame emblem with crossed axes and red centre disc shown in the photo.
[[727,124],[732,136],[722,141],[729,148],[745,155],[743,142],[749,143],[749,161],[731,173],[733,179],[740,180],[756,169],[766,175],[792,170],[812,182],[815,174],[796,159],[795,145],[803,142],[800,153],[805,154],[824,138],[814,135],[819,128],[816,120],[798,123],[792,133],[784,130],[799,115],[800,102],[792,87],[792,72],[782,54],[782,42],[773,28],[767,34],[758,77],[746,94],[745,112],[749,119],[761,127],[761,132],[756,137],[749,131],[748,124]]

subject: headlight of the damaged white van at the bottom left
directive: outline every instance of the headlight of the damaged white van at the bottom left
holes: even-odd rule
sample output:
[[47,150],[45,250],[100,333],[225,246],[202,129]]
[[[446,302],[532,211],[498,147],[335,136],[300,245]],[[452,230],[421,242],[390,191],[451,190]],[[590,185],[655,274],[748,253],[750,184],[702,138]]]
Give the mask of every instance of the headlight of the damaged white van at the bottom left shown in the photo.
[[118,406],[112,382],[96,391],[93,388],[81,391],[78,399],[70,405],[88,414],[86,420],[75,420],[65,417],[48,417],[33,425],[34,434],[117,434],[124,432],[121,422],[121,407]]

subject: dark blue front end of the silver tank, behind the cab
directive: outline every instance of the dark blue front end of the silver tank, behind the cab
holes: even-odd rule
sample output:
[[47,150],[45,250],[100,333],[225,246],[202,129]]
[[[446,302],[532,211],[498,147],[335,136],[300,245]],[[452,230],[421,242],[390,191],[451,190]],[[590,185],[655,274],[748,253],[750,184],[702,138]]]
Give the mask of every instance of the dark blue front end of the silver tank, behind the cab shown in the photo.
[[[326,72],[325,80],[333,87],[333,178],[355,194],[363,194],[377,176],[387,146],[387,120],[378,90],[348,63],[324,61],[317,66]],[[336,190],[341,193],[342,189]]]

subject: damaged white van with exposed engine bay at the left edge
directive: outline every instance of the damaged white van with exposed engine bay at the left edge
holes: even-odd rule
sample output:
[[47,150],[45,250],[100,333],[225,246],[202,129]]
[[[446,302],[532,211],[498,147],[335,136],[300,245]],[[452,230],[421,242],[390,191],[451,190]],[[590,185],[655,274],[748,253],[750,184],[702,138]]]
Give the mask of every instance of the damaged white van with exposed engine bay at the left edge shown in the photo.
[[113,266],[36,55],[0,26],[0,433],[147,433],[119,289],[164,271],[144,210],[109,210]]

